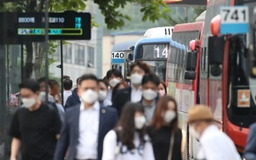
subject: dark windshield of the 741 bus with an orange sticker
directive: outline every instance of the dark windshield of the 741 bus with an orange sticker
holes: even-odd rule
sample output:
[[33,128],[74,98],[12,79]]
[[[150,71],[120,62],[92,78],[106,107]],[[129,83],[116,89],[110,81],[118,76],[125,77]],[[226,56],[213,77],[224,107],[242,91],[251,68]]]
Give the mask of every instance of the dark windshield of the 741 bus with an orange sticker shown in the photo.
[[249,127],[256,121],[256,81],[250,77],[246,35],[230,38],[228,116],[233,124]]

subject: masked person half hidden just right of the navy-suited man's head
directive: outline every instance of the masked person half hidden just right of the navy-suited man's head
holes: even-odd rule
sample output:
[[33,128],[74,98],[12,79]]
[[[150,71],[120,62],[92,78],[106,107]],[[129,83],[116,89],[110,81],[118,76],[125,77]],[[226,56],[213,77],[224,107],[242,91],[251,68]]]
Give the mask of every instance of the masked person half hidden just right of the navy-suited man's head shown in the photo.
[[108,83],[104,80],[99,80],[99,102],[101,106],[108,107],[112,105],[112,102],[106,99],[108,95]]

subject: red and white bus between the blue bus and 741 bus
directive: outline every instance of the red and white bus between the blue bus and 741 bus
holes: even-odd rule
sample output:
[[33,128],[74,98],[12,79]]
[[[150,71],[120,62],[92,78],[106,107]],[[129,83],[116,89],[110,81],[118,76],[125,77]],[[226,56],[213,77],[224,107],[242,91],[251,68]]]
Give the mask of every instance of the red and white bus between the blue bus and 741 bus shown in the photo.
[[[200,48],[195,49],[195,52],[189,52],[189,42],[194,42],[196,46],[201,46],[202,42],[202,31],[204,28],[204,22],[193,22],[188,24],[177,24],[173,28],[173,35],[170,41],[170,52],[168,55],[167,72],[166,72],[166,84],[168,84],[168,92],[170,95],[175,96],[178,102],[179,111],[179,125],[183,133],[183,147],[185,142],[189,143],[189,138],[186,138],[188,134],[188,125],[186,124],[187,113],[189,107],[196,103],[197,92],[198,92],[198,79],[191,80],[185,79],[186,70],[188,70],[188,64],[186,61],[191,60],[192,56],[196,56],[194,70],[199,68],[200,60]],[[194,40],[194,41],[193,41]],[[193,54],[193,55],[192,55]],[[198,77],[198,72],[195,77]],[[189,148],[184,150],[184,154],[189,152]],[[191,152],[191,151],[190,151]]]

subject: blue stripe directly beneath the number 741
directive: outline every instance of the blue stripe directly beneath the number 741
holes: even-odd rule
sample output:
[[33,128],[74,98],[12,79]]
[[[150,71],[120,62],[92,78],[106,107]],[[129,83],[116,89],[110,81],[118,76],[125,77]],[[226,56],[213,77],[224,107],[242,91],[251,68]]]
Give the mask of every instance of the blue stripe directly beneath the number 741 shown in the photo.
[[221,34],[237,34],[237,33],[248,33],[249,24],[247,23],[230,23],[221,24],[220,33]]

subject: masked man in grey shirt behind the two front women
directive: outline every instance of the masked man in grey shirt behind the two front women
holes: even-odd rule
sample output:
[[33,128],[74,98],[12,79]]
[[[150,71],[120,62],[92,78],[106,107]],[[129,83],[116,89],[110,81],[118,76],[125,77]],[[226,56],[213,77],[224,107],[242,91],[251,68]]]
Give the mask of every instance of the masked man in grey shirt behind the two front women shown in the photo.
[[159,78],[154,73],[146,74],[142,79],[142,100],[145,108],[145,116],[147,124],[152,120],[156,109],[156,103],[158,99],[158,85],[160,84]]

